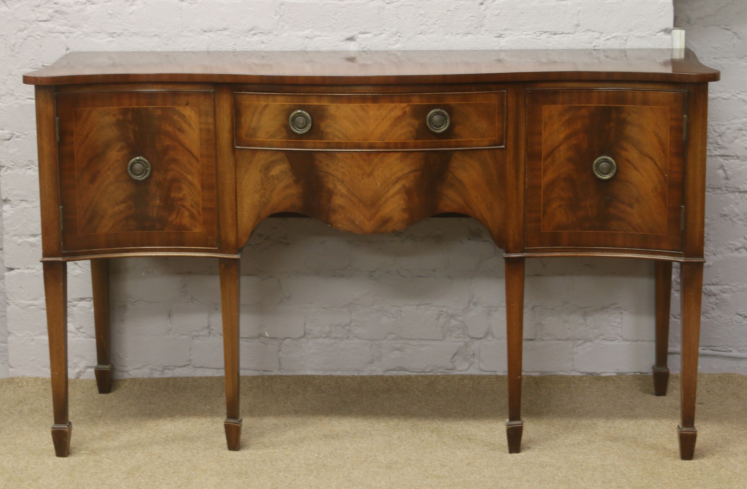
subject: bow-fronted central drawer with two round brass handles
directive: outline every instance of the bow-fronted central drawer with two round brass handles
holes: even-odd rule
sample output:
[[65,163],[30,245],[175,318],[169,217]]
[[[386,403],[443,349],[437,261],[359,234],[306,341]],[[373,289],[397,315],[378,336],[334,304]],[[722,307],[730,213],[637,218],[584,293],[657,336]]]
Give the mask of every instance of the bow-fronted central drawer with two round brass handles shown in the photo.
[[238,149],[503,147],[506,93],[236,93]]

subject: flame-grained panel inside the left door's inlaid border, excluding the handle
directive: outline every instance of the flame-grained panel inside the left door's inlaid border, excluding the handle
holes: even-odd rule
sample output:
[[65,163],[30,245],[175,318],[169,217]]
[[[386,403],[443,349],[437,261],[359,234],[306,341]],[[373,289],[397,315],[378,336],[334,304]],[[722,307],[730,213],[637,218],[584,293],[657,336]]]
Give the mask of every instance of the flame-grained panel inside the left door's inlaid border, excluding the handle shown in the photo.
[[[196,134],[197,116],[188,107],[76,109],[78,232],[202,228],[199,149],[195,139],[180,137]],[[123,171],[123,162],[143,154],[154,161],[155,172],[137,183]]]

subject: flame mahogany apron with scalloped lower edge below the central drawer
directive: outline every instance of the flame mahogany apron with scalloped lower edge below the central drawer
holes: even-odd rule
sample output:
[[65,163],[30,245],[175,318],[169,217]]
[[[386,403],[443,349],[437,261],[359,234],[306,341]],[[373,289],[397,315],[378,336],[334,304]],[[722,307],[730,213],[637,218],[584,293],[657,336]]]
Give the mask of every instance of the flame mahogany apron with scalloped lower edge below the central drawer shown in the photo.
[[482,222],[502,246],[501,151],[238,151],[238,242],[282,211],[356,233],[396,231],[456,212]]

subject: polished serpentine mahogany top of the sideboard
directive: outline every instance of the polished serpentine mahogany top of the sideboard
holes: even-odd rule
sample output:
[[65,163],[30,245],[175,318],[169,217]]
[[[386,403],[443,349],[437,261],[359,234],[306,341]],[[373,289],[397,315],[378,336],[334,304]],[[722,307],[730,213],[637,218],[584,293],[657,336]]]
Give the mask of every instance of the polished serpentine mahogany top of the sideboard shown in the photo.
[[621,80],[706,82],[719,72],[686,49],[476,51],[75,52],[26,73],[27,84],[210,82],[438,84]]

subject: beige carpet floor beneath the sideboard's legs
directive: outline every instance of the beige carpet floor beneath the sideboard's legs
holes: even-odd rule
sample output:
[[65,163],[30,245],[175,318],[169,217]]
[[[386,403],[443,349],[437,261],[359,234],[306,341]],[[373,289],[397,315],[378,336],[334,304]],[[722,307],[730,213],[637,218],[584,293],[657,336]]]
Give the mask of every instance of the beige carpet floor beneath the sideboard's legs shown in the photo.
[[72,380],[56,458],[48,379],[0,379],[5,488],[746,488],[747,376],[701,375],[695,460],[678,458],[678,377],[524,379],[506,452],[506,379],[267,376],[241,381],[240,452],[223,378]]

